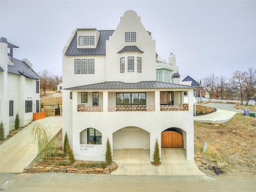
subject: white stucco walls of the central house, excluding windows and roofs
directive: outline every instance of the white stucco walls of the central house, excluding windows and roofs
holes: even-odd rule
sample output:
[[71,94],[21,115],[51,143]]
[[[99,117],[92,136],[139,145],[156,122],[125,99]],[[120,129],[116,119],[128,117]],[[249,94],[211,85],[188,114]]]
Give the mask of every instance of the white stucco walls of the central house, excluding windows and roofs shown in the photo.
[[[136,32],[136,42],[125,42],[125,32]],[[96,84],[107,81],[136,83],[156,80],[156,45],[152,36],[140,22],[140,17],[134,11],[127,11],[120,18],[116,30],[106,41],[106,55],[65,56],[72,41],[72,32],[63,49],[62,80],[63,88]],[[117,53],[125,46],[137,46],[144,53],[126,51]],[[128,72],[127,57],[134,56],[134,72]],[[125,58],[125,72],[120,73],[120,58]],[[142,72],[137,72],[137,57],[142,60]],[[94,59],[94,74],[74,74],[74,59]],[[72,99],[70,92],[72,91]],[[183,92],[188,91],[189,111],[160,111],[160,91],[172,92],[174,104],[183,104]],[[81,103],[81,92],[88,92],[88,103],[92,105],[92,92],[99,92],[99,105],[103,112],[78,112],[77,105]],[[108,106],[116,105],[116,92],[146,92],[146,104],[154,105],[154,111],[108,112]],[[192,94],[191,94],[192,93]],[[182,98],[181,98],[182,95]],[[167,128],[177,127],[182,130],[184,148],[187,150],[187,160],[194,159],[193,138],[193,89],[118,89],[118,90],[63,90],[63,127],[67,132],[74,156],[84,160],[105,160],[106,140],[109,138],[111,148],[122,148],[122,129],[140,128],[143,130],[143,148],[150,148],[150,159],[154,152],[155,140],[161,145],[161,132]],[[101,145],[86,145],[87,128],[95,128],[102,133]],[[83,138],[81,138],[83,137]],[[191,138],[192,137],[192,138]]]

